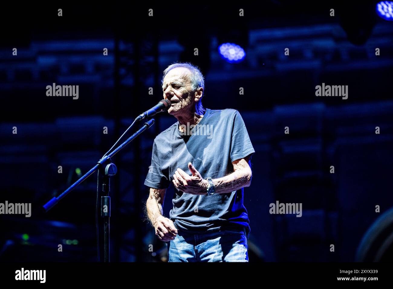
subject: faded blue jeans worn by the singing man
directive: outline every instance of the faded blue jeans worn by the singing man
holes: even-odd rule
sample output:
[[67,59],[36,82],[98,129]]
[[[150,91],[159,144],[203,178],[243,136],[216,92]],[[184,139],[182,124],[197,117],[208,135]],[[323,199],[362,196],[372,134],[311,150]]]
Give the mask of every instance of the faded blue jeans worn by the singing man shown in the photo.
[[169,262],[248,262],[244,231],[193,234],[178,230],[167,245]]

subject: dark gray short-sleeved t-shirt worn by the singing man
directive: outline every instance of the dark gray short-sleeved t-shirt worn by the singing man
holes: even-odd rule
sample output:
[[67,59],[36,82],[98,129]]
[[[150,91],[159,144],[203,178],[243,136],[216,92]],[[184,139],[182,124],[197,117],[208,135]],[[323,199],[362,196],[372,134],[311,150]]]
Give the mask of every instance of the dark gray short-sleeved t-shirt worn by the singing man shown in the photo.
[[[176,122],[154,139],[146,186],[168,188],[177,168],[191,176],[189,162],[204,179],[224,177],[233,172],[233,161],[255,152],[237,110],[207,109],[196,127],[188,125],[191,136],[182,135],[178,127]],[[177,229],[192,233],[246,229],[248,236],[250,221],[243,205],[243,188],[213,196],[174,191],[169,218]]]

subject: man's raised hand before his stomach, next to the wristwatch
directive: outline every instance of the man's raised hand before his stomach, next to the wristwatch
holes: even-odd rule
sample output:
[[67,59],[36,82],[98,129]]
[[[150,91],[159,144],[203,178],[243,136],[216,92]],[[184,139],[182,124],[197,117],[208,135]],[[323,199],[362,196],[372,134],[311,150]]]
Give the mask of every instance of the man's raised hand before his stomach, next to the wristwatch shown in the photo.
[[206,195],[209,182],[203,179],[192,163],[188,163],[191,176],[178,168],[173,175],[173,185],[180,191],[193,195]]

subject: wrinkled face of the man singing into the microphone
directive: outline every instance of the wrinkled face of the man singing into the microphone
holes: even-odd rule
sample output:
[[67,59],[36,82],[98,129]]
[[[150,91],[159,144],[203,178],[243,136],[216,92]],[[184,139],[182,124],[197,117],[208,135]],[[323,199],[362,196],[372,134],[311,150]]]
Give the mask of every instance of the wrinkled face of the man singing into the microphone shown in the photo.
[[168,110],[171,115],[186,113],[194,104],[194,93],[189,73],[190,71],[187,68],[177,67],[171,69],[164,77],[162,84],[163,97],[172,102]]

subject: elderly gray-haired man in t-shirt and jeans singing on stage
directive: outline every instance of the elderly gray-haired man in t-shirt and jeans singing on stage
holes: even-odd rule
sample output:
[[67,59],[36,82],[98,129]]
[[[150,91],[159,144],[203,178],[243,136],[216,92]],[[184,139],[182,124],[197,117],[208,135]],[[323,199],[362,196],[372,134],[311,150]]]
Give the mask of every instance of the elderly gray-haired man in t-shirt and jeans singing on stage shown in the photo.
[[[243,187],[251,184],[255,151],[242,117],[237,110],[202,106],[204,77],[191,64],[168,66],[162,89],[172,103],[168,113],[178,121],[154,139],[145,180],[156,236],[168,242],[169,262],[248,262]],[[168,219],[162,205],[171,183]]]

